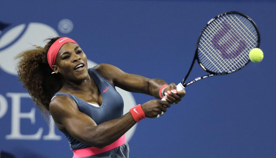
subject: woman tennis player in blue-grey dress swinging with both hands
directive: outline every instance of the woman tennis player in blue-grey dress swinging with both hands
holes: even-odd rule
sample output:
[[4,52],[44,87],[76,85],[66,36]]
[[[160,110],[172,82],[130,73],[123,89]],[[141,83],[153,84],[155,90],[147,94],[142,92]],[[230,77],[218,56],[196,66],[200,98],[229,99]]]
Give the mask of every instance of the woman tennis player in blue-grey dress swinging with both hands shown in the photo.
[[[87,68],[87,57],[68,37],[20,53],[18,75],[42,113],[50,112],[69,140],[74,157],[129,157],[125,133],[145,117],[163,115],[185,90],[161,79],[128,74],[109,64]],[[166,101],[151,100],[123,115],[115,86]],[[166,92],[166,93],[164,93]]]

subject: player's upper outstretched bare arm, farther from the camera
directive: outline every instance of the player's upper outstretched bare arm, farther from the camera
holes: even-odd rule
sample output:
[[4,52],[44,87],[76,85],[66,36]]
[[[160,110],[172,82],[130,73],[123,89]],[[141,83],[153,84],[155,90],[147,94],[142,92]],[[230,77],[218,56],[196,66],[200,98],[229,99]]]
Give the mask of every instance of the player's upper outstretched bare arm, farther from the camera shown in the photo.
[[99,64],[95,67],[95,69],[99,72],[99,74],[101,74],[101,76],[111,80],[117,87],[129,92],[152,95],[158,99],[160,99],[160,87],[164,84],[168,84],[164,80],[158,78],[149,79],[140,75],[128,74],[109,64]]

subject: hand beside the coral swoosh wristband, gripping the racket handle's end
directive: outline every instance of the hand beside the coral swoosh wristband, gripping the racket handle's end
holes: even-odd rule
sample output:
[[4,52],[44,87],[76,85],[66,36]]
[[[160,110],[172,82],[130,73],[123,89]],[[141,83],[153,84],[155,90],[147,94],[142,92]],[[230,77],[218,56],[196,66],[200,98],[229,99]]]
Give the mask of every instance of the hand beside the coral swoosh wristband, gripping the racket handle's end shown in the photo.
[[167,107],[170,107],[170,103],[162,100],[150,100],[141,105],[145,116],[149,118],[155,118],[158,114],[161,114],[162,111],[166,112]]

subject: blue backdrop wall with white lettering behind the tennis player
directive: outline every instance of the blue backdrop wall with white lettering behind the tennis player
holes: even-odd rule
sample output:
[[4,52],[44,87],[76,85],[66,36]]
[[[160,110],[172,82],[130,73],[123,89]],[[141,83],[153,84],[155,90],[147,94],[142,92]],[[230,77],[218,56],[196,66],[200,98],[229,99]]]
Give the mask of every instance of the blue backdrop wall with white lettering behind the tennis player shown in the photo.
[[[44,46],[45,38],[68,36],[80,44],[91,67],[109,63],[128,73],[178,83],[189,69],[202,28],[226,11],[242,12],[256,22],[263,61],[187,87],[181,103],[127,133],[130,157],[276,157],[272,0],[0,1],[2,157],[73,155],[68,140],[50,118],[47,125],[18,81],[16,54]],[[205,74],[196,63],[188,80]],[[154,99],[118,91],[125,113]]]

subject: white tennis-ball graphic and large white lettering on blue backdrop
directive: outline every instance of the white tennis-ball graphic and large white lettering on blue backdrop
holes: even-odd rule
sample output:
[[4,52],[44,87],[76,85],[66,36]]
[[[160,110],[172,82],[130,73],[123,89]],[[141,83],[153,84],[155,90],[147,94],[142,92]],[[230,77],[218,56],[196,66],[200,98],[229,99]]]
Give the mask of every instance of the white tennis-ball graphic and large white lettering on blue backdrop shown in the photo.
[[[46,43],[43,42],[45,38],[59,36],[57,31],[51,26],[42,23],[31,22],[29,24],[19,24],[14,27],[10,27],[7,24],[0,22],[0,81],[9,82],[5,80],[7,75],[14,76],[16,78],[15,65],[17,61],[14,61],[14,57],[26,49],[32,48],[32,45],[44,46]],[[97,63],[87,59],[88,68],[91,68]],[[3,73],[6,72],[6,73]],[[31,75],[31,74],[30,74]],[[50,75],[50,74],[49,74]],[[28,93],[16,93],[16,87],[21,88],[18,82],[14,83],[12,91],[5,89],[4,92],[0,93],[0,121],[5,115],[11,116],[10,133],[5,134],[6,140],[61,140],[62,137],[55,134],[55,124],[53,119],[49,118],[49,129],[40,127],[32,134],[21,134],[20,126],[22,120],[30,121],[30,124],[35,124],[35,113],[39,113],[38,109],[34,106],[30,107],[30,112],[22,112],[21,107],[25,107],[22,100],[31,99]],[[116,90],[121,94],[124,100],[124,114],[136,105],[135,99],[132,94],[124,91],[118,87]],[[7,99],[11,99],[11,105],[8,105]],[[8,108],[11,108],[11,113],[7,113]],[[26,122],[24,122],[26,123]],[[45,123],[45,122],[43,122]],[[46,124],[46,123],[45,123]],[[6,128],[6,127],[1,127]],[[136,129],[136,125],[133,126],[127,133],[126,139],[129,141]],[[22,130],[22,129],[21,129]],[[43,130],[49,130],[47,135],[42,135]]]

